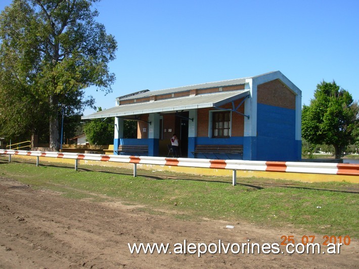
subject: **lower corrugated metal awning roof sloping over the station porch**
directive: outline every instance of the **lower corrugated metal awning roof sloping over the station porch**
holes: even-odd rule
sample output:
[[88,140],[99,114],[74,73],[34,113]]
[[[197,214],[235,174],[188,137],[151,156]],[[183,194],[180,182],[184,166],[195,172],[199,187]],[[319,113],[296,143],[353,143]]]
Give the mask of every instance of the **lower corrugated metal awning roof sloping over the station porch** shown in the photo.
[[[228,83],[226,83],[228,85]],[[218,107],[231,101],[240,99],[249,94],[249,89],[233,92],[220,92],[213,94],[203,94],[197,96],[187,96],[175,99],[164,99],[146,103],[120,105],[107,110],[99,111],[82,119],[110,118],[131,115],[141,115],[147,113],[172,112],[179,110],[189,110],[196,108]]]

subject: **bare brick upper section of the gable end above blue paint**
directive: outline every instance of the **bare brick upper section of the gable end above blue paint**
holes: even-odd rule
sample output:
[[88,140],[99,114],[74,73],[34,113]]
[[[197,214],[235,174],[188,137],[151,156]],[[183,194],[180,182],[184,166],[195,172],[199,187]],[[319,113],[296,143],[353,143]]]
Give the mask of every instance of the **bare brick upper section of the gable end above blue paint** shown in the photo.
[[257,86],[259,104],[295,109],[295,94],[279,79]]

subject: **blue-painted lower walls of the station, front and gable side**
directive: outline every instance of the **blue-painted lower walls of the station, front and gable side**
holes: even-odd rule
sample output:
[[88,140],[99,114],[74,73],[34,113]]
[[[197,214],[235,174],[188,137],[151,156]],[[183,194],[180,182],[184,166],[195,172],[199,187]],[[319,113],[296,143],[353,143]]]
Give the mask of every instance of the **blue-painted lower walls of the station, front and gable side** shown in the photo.
[[[159,153],[158,139],[115,139],[114,149],[117,149],[119,145],[148,145],[148,156],[158,156]],[[196,145],[243,145],[243,156],[240,154],[193,154]],[[121,154],[133,155],[130,152]],[[257,104],[257,137],[226,139],[189,137],[188,157],[263,161],[300,160],[301,141],[295,140],[295,110]]]

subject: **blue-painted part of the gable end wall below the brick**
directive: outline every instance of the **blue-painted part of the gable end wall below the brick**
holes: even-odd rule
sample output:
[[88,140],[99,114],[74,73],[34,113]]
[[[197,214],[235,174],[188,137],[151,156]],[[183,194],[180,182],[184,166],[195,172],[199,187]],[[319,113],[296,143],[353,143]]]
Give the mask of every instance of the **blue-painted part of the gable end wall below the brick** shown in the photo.
[[258,104],[256,147],[257,156],[252,160],[298,160],[300,149],[295,140],[295,110]]

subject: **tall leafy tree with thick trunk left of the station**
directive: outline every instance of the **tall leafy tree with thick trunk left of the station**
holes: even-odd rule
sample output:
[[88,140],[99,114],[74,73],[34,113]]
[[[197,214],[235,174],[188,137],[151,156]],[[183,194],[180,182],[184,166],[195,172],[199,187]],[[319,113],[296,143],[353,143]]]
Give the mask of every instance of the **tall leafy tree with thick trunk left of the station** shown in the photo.
[[108,63],[117,43],[95,21],[96,2],[14,0],[0,14],[0,124],[16,128],[10,135],[48,122],[50,147],[58,149],[62,108],[93,105],[82,101],[89,86],[112,91]]

